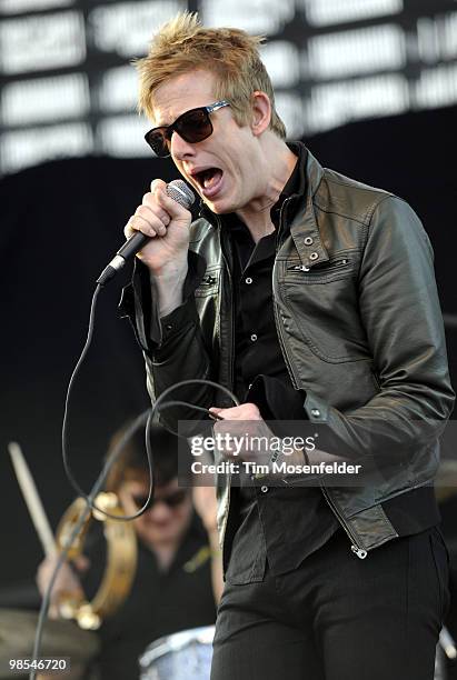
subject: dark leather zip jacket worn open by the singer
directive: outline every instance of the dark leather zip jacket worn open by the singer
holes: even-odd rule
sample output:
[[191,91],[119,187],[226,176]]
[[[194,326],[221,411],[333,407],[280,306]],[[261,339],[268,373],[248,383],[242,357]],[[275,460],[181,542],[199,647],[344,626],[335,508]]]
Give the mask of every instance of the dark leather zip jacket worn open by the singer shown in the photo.
[[[306,393],[306,418],[327,423],[336,441],[356,441],[368,456],[383,456],[383,449],[409,456],[408,464],[377,483],[321,487],[352,550],[365,557],[398,536],[393,520],[398,513],[387,511],[389,501],[401,496],[401,512],[406,507],[408,514],[405,500],[421,489],[428,493],[416,494],[419,504],[435,503],[430,484],[438,436],[454,392],[433,251],[405,201],[324,169],[309,152],[305,157],[306,194],[282,206],[281,223],[297,201],[290,228],[278,238],[272,271],[277,332],[291,381]],[[156,310],[136,307],[152,397],[187,378],[232,386],[230,252],[217,216],[210,220],[201,217],[191,226],[190,263],[200,268],[195,293],[162,324]],[[207,387],[192,388],[187,397],[206,407],[232,406]],[[162,418],[171,423],[173,416]],[[195,412],[182,409],[179,417],[192,419]],[[377,431],[380,448],[372,452]],[[230,497],[225,476],[218,494],[223,540]],[[413,518],[416,526],[420,522]]]

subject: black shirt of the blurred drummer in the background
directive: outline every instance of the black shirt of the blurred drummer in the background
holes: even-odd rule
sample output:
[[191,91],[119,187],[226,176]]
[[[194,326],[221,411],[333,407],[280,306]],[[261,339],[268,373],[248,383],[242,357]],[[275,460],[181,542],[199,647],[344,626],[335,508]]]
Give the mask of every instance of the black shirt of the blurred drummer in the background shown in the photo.
[[[92,539],[93,541],[93,539]],[[105,564],[105,541],[95,540],[87,554],[90,579],[83,580],[90,598]],[[88,582],[89,581],[89,582]],[[211,626],[216,604],[211,587],[208,537],[197,516],[167,571],[159,569],[153,552],[138,541],[137,572],[130,594],[98,631],[101,650],[96,659],[100,680],[139,678],[138,658],[162,636]]]

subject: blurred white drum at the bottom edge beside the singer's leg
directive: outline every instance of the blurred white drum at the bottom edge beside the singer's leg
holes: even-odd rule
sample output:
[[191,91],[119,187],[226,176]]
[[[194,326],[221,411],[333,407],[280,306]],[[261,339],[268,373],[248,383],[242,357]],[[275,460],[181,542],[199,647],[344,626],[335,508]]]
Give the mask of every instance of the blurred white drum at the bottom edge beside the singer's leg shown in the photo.
[[209,680],[213,637],[206,626],[152,642],[139,659],[141,680]]

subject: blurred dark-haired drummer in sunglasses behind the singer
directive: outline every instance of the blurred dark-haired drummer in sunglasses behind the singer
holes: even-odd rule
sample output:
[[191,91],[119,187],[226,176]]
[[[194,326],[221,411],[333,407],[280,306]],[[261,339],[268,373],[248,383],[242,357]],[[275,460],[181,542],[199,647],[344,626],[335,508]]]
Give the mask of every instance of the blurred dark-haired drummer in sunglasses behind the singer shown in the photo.
[[[115,438],[113,443],[117,441]],[[222,576],[216,530],[216,497],[210,487],[178,486],[177,440],[155,426],[152,432],[156,491],[152,507],[135,520],[138,538],[137,573],[129,597],[97,631],[100,653],[96,676],[100,680],[133,680],[139,677],[138,657],[162,636],[212,624]],[[126,513],[143,504],[149,486],[143,434],[127,446],[107,480]],[[180,449],[181,454],[181,449]],[[181,481],[181,480],[180,480]],[[197,510],[197,512],[196,512]],[[90,544],[91,542],[91,544]],[[89,544],[88,544],[89,543]],[[88,598],[97,589],[105,568],[105,542],[86,541],[86,556],[76,570],[64,564],[51,598],[50,617],[58,618],[62,592],[78,592],[81,583]],[[54,561],[46,559],[37,583],[43,593]],[[91,678],[87,669],[83,678]]]

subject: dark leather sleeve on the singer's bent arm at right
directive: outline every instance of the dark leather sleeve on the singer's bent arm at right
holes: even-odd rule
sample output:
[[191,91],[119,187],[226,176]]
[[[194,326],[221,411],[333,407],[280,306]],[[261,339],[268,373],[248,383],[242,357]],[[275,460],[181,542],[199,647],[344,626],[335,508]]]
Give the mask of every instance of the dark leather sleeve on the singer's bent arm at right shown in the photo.
[[[379,391],[342,413],[308,391],[305,409],[326,423],[328,450],[411,460],[445,428],[454,404],[428,237],[411,208],[388,196],[372,213],[359,271],[359,313]],[[322,443],[322,442],[321,442]],[[430,449],[431,450],[431,449]]]

